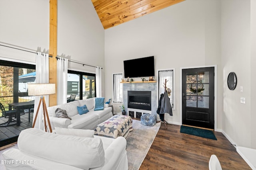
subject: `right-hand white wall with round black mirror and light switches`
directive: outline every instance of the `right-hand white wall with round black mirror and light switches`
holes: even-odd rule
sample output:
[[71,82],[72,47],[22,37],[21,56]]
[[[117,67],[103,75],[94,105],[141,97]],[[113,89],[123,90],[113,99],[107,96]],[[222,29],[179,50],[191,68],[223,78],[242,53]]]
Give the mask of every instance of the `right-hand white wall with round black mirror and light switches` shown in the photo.
[[[234,144],[251,147],[250,0],[222,0],[221,4],[224,92],[222,130]],[[237,75],[235,90],[229,90],[226,84],[229,72]],[[240,92],[240,86],[243,87],[243,92]],[[246,104],[240,103],[240,97],[246,98]]]

